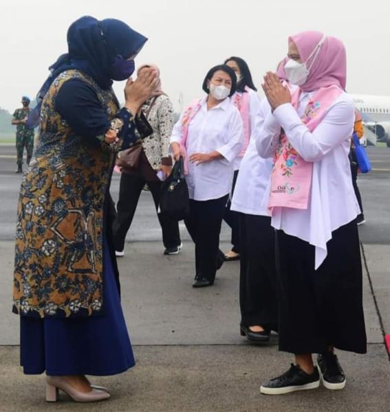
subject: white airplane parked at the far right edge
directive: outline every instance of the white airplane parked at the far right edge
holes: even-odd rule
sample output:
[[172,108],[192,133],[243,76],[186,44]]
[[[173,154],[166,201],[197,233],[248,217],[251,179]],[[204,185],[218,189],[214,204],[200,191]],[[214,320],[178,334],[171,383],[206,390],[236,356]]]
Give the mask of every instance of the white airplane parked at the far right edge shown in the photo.
[[352,95],[362,115],[365,137],[375,146],[382,141],[390,148],[390,96]]

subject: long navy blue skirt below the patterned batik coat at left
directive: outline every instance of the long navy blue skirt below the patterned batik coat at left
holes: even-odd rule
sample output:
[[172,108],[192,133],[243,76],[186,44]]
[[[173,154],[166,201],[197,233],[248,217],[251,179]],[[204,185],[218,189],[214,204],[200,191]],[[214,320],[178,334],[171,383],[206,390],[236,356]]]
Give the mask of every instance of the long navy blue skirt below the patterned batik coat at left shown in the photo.
[[104,314],[67,319],[21,317],[25,374],[107,376],[135,364],[106,242],[103,256]]

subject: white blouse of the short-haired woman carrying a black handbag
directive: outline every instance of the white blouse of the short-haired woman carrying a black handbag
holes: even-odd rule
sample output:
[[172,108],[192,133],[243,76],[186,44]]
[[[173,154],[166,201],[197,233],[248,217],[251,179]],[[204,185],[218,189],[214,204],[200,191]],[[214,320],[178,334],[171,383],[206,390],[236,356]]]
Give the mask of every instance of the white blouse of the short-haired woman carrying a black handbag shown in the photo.
[[[182,139],[182,117],[172,131],[171,143]],[[199,111],[188,124],[186,152],[189,158],[194,153],[210,153],[217,150],[223,157],[195,165],[188,162],[186,181],[188,194],[195,201],[221,198],[230,192],[233,162],[239,154],[243,141],[243,124],[237,108],[226,98],[217,106],[207,109],[207,97]]]

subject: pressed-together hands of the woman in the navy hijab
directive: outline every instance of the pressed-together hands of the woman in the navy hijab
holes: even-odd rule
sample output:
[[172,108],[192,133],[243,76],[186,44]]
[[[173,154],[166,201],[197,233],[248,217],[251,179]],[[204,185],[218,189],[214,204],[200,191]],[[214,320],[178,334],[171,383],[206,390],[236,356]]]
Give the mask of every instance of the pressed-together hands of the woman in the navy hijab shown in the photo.
[[138,78],[129,78],[124,87],[124,106],[135,115],[140,106],[148,100],[158,84],[158,74],[152,67],[142,69]]

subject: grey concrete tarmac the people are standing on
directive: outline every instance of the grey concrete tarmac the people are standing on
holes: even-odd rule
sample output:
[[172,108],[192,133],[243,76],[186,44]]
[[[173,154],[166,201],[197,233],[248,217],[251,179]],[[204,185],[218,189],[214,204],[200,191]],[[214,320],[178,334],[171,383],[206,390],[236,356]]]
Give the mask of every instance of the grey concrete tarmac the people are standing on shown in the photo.
[[[390,150],[377,154],[381,169]],[[1,153],[1,148],[0,148]],[[384,162],[384,163],[383,163]],[[118,260],[122,306],[137,365],[127,373],[94,378],[111,400],[75,404],[65,394],[46,404],[42,376],[19,367],[19,319],[10,312],[15,207],[20,176],[0,155],[0,412],[13,411],[390,411],[390,363],[384,334],[390,333],[389,172],[360,176],[366,225],[360,227],[368,352],[339,352],[347,374],[343,391],[321,387],[286,396],[263,396],[259,387],[285,371],[292,356],[268,345],[250,345],[239,335],[239,264],[228,262],[215,286],[193,289],[193,244],[181,225],[184,248],[164,256],[151,195],[144,192],[126,255]],[[389,168],[390,169],[390,168]],[[118,176],[112,194],[118,194]],[[228,250],[224,227],[221,249]]]

